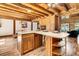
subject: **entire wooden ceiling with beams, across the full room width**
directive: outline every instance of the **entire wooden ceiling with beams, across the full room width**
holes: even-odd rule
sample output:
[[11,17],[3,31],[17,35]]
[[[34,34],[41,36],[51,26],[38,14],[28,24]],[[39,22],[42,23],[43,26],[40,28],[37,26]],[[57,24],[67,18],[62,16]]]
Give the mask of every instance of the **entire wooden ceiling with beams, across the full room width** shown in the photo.
[[33,20],[54,14],[78,10],[77,3],[0,3],[0,16],[12,19]]

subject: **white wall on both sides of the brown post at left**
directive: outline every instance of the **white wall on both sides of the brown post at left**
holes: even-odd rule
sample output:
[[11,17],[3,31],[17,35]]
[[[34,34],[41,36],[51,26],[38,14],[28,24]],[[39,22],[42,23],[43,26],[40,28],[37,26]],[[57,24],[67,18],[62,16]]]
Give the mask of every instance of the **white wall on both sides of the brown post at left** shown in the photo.
[[[0,19],[0,22],[1,22],[0,36],[12,35],[13,34],[13,20]],[[27,21],[27,28],[22,28],[21,21],[16,20],[16,33],[21,30],[30,31],[31,22]]]

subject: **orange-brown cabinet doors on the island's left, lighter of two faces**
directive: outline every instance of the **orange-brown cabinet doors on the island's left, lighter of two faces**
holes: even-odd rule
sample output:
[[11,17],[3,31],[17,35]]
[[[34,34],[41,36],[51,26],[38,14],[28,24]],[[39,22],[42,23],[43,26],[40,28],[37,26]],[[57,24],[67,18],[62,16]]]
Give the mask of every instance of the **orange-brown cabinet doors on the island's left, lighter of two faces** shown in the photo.
[[34,49],[34,34],[22,35],[22,54]]

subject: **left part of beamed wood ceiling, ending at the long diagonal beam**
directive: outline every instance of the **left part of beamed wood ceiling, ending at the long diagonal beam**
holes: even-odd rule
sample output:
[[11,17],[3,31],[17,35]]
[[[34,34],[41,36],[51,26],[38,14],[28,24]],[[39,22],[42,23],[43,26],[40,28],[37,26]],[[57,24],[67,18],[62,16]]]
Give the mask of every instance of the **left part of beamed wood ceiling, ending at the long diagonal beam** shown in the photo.
[[38,4],[0,3],[0,16],[2,17],[32,20],[53,14],[52,11],[43,8]]

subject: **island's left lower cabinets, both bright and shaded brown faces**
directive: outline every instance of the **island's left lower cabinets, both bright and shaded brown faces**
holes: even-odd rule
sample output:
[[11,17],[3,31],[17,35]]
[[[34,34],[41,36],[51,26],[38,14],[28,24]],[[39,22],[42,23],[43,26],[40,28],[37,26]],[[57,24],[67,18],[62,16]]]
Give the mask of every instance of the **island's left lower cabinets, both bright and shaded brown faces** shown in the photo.
[[42,35],[22,34],[21,55],[42,46]]

